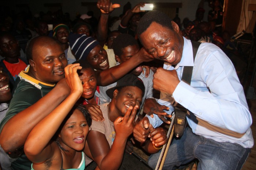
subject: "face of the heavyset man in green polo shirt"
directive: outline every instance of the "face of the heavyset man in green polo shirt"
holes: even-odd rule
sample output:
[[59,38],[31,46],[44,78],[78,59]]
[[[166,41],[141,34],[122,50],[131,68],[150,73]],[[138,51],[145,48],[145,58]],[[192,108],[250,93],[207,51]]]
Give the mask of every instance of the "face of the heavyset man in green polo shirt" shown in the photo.
[[[49,37],[44,38],[49,39]],[[32,56],[33,60],[30,60],[29,63],[35,72],[35,79],[55,84],[65,77],[64,68],[67,66],[67,59],[60,44],[54,40],[37,41],[34,44]]]

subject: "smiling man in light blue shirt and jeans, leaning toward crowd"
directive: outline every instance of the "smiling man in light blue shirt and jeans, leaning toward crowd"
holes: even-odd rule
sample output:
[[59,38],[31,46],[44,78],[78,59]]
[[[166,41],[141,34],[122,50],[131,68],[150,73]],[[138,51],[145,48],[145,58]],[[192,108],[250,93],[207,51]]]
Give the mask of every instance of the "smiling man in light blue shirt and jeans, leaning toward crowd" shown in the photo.
[[[168,101],[172,98],[190,111],[189,126],[181,138],[173,139],[163,169],[180,169],[195,158],[199,160],[198,169],[241,169],[253,146],[252,118],[231,61],[214,44],[202,43],[193,62],[191,41],[159,11],[144,15],[137,31],[152,58],[165,64],[153,79],[161,99],[158,103],[148,99],[144,105],[144,112],[151,114],[154,110],[158,116],[147,116],[137,124],[135,138],[143,142],[147,137],[148,120],[154,127],[162,124],[164,119],[159,117],[174,111]],[[181,80],[184,66],[193,66],[190,86]],[[149,158],[151,167],[157,164],[159,154]]]

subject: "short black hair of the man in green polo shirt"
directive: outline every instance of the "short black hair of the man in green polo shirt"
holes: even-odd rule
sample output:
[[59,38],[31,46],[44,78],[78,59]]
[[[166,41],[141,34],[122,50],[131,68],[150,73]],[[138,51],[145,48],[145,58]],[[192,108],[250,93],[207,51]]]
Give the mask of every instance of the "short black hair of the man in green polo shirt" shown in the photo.
[[[42,41],[43,40],[43,41]],[[34,48],[34,44],[37,43],[37,41],[41,41],[41,44],[46,43],[45,40],[47,41],[52,41],[55,42],[57,44],[60,44],[56,39],[49,37],[49,36],[45,36],[45,35],[41,35],[41,36],[37,36],[35,38],[33,38],[30,43],[29,46],[27,47],[26,50],[26,56],[27,56],[27,62],[29,62],[29,60],[33,60],[33,48]]]

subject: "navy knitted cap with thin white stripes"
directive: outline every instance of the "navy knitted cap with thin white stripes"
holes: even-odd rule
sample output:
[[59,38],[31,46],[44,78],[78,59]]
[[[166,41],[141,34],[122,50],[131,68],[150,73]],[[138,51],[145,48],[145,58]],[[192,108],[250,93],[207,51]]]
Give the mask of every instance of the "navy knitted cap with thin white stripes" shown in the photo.
[[68,37],[71,50],[75,53],[77,60],[86,59],[87,55],[95,46],[99,44],[93,37],[88,37],[84,34],[71,34]]

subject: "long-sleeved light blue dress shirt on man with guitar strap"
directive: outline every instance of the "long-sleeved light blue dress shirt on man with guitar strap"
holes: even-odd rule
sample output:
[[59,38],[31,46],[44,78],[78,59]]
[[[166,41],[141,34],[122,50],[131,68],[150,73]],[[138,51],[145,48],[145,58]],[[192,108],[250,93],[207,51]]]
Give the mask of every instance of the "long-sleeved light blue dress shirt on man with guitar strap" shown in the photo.
[[[172,96],[163,96],[158,99],[158,103],[170,107],[167,113],[171,114],[174,108],[166,99],[172,97],[197,118],[222,129],[244,135],[241,138],[235,138],[211,131],[198,125],[187,116],[187,122],[195,134],[218,142],[238,143],[243,147],[251,148],[253,146],[250,128],[252,117],[236,70],[225,53],[214,44],[202,43],[197,51],[195,62],[193,62],[191,41],[184,38],[180,63],[175,68],[169,63],[165,63],[163,68],[176,70],[178,78],[181,80],[184,66],[194,66],[191,86],[181,81]],[[154,118],[147,117],[154,127],[163,123],[156,115]]]

